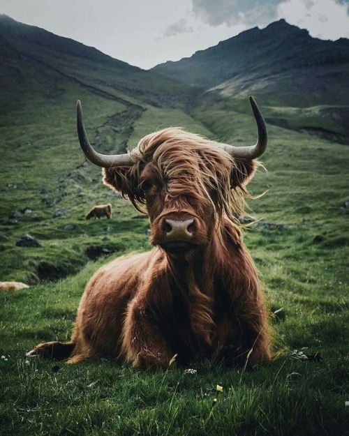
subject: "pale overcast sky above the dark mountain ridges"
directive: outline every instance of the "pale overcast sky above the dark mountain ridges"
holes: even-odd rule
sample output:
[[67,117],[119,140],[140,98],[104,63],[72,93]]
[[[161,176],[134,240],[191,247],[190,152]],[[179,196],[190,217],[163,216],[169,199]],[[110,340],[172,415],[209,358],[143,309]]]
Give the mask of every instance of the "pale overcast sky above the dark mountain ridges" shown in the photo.
[[0,0],[0,13],[144,69],[281,18],[349,38],[349,0]]

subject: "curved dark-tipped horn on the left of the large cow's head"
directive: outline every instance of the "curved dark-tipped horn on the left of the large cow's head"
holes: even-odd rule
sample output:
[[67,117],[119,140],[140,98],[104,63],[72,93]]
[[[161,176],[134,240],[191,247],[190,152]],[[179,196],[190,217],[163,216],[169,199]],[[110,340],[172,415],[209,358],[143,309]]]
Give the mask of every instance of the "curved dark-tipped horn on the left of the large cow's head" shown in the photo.
[[84,129],[84,123],[82,122],[82,109],[80,100],[77,100],[76,103],[76,124],[80,146],[84,152],[84,155],[91,163],[103,168],[117,167],[118,165],[133,165],[131,156],[128,153],[107,155],[98,153],[96,150],[94,150],[93,146],[91,146],[89,143]]

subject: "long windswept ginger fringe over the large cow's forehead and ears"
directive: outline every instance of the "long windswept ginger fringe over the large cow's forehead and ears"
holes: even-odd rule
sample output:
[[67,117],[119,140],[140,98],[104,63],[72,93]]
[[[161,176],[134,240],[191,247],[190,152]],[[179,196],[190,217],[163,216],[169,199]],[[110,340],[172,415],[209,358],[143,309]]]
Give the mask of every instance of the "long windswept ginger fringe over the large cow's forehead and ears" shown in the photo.
[[[122,195],[131,201],[135,209],[147,213],[144,193],[139,187],[140,174],[147,163],[153,163],[161,171],[165,182],[170,181],[170,193],[175,202],[177,196],[191,196],[195,206],[211,202],[218,219],[216,232],[223,241],[221,218],[228,218],[232,238],[240,239],[238,217],[246,214],[246,198],[254,198],[247,188],[244,165],[237,165],[235,158],[226,153],[220,144],[205,137],[188,133],[181,128],[165,128],[151,133],[131,151],[135,164],[104,170],[104,181],[110,186],[121,186]],[[259,165],[253,163],[253,165]],[[232,186],[232,174],[242,180]],[[212,194],[214,193],[214,198]],[[226,231],[226,230],[225,230]],[[227,235],[225,235],[227,236]]]

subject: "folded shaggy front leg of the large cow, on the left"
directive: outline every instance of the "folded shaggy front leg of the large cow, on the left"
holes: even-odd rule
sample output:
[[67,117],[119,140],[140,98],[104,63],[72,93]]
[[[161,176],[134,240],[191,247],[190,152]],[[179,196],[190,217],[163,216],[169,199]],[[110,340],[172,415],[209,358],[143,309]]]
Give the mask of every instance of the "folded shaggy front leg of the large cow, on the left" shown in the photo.
[[122,349],[126,360],[140,368],[168,368],[174,356],[159,317],[146,302],[134,299],[124,322]]

